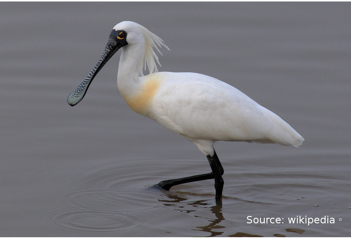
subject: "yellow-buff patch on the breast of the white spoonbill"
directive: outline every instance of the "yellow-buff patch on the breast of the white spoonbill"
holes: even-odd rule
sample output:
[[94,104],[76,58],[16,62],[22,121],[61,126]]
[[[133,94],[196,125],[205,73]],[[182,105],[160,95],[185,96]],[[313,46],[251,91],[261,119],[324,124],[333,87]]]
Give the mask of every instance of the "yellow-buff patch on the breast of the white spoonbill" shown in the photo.
[[159,87],[160,81],[157,78],[151,78],[144,83],[137,95],[127,98],[126,102],[132,110],[145,115]]

